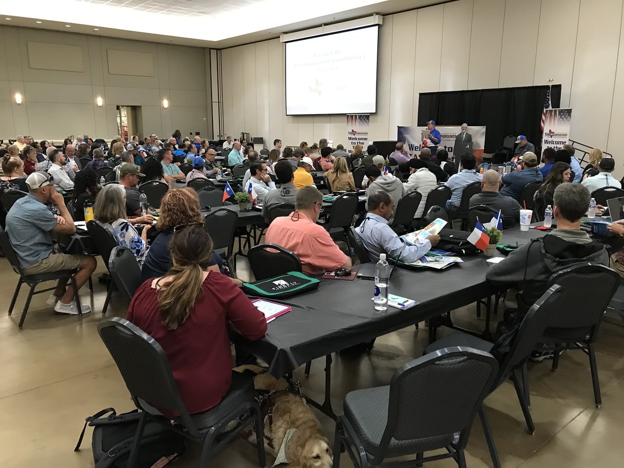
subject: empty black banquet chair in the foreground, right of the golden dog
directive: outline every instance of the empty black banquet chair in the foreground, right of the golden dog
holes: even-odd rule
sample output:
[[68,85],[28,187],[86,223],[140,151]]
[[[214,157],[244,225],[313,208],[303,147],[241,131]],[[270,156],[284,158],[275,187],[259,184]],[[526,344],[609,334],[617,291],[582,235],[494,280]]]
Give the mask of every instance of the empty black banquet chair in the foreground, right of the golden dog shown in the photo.
[[[336,421],[333,468],[343,446],[361,468],[406,467],[384,461],[409,455],[409,466],[452,458],[465,468],[470,426],[498,368],[489,353],[453,347],[404,364],[388,386],[349,392]],[[447,452],[424,457],[437,449]]]

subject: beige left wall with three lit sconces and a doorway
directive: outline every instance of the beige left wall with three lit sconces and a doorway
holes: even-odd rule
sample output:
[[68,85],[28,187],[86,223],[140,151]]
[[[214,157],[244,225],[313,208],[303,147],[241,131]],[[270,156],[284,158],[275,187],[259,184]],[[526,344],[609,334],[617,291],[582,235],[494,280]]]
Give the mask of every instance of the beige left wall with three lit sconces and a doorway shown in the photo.
[[117,105],[142,106],[145,134],[180,129],[208,137],[205,57],[201,47],[0,26],[0,138],[109,140],[117,134]]

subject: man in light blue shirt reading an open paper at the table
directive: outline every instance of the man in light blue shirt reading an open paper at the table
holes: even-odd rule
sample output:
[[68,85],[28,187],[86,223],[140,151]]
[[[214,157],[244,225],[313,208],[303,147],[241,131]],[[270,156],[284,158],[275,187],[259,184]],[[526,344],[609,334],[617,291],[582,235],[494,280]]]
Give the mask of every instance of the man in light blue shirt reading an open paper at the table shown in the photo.
[[369,188],[368,213],[356,233],[361,238],[371,261],[379,261],[379,254],[385,253],[389,258],[412,263],[425,255],[432,246],[440,241],[439,235],[427,236],[423,242],[409,245],[401,241],[396,232],[388,226],[392,217],[394,201],[391,195],[384,190]]

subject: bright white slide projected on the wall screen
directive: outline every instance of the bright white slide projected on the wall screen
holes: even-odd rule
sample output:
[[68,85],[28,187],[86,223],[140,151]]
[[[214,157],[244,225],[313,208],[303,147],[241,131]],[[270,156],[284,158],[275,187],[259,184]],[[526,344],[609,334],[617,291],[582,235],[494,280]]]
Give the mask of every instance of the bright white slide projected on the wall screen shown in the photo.
[[376,112],[378,30],[286,42],[286,115]]

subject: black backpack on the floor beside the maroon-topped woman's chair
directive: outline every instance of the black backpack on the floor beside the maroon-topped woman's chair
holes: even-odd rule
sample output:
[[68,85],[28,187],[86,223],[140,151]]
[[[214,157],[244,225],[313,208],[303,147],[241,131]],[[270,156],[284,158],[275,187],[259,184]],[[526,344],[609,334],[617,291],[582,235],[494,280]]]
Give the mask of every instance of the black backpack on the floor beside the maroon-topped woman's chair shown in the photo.
[[[109,412],[109,416],[102,417]],[[113,408],[98,411],[85,419],[74,452],[79,451],[84,431],[89,424],[94,428],[91,446],[95,468],[125,468],[139,427],[139,417],[137,409],[123,414],[117,414]],[[178,459],[184,451],[183,436],[163,424],[148,421],[143,431],[135,467],[150,468],[163,458],[171,462]]]

